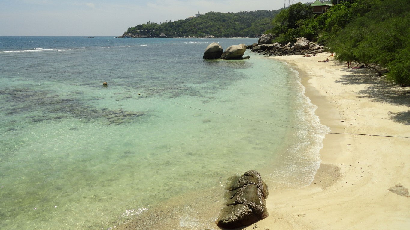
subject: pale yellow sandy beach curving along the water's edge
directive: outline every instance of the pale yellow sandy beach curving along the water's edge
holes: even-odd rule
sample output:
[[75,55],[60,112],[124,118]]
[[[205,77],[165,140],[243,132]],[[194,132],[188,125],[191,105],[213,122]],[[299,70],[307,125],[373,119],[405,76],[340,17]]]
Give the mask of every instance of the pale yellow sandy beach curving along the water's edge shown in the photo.
[[[299,72],[305,95],[317,105],[316,114],[331,131],[323,140],[321,165],[311,185],[295,190],[270,187],[266,199],[269,217],[239,229],[410,227],[410,198],[388,190],[395,185],[410,188],[410,89],[387,83],[369,69],[348,69],[329,54],[271,57]],[[330,61],[318,62],[326,58]],[[177,197],[166,207],[151,210],[155,216],[143,214],[117,229],[142,225],[147,230],[176,226],[197,230],[198,223],[205,220],[207,226],[198,230],[220,229],[213,221],[223,203],[204,207],[201,203],[208,202],[207,194],[200,199],[192,197],[196,196]]]

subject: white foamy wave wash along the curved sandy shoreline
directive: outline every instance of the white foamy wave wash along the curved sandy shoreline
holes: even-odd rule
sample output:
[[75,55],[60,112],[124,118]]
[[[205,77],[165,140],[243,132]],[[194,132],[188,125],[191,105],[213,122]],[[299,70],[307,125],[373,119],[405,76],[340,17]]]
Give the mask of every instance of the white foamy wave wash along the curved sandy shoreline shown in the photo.
[[275,178],[279,184],[289,181],[289,184],[282,184],[285,188],[300,188],[312,183],[321,162],[319,152],[323,148],[323,139],[330,128],[321,124],[315,114],[317,106],[305,96],[306,88],[301,83],[299,72],[295,69],[292,71],[297,76],[299,86],[299,96],[296,99],[298,110],[293,118],[293,123],[298,127],[297,132],[293,132],[297,141],[291,144],[283,156],[285,164],[270,174],[270,177]]

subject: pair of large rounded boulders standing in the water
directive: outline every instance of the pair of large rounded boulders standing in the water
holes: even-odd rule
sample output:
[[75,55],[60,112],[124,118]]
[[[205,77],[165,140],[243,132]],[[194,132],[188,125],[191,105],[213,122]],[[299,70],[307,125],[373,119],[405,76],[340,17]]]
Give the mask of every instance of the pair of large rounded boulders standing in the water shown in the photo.
[[204,52],[204,59],[247,59],[249,56],[242,57],[244,56],[246,51],[246,45],[245,44],[239,44],[239,45],[231,45],[228,47],[225,51],[223,51],[222,46],[219,45],[219,43],[212,42],[210,45],[208,45],[205,49]]

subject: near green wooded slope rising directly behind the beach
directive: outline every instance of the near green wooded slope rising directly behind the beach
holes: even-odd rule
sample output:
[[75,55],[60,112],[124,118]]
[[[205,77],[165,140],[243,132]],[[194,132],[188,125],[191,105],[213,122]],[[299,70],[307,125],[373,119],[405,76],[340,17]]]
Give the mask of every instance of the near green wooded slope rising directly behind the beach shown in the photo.
[[[339,2],[339,4],[335,4]],[[329,47],[344,62],[363,63],[387,78],[410,86],[410,4],[408,0],[333,1],[326,13],[297,3],[282,10],[269,30],[273,42],[305,37]]]

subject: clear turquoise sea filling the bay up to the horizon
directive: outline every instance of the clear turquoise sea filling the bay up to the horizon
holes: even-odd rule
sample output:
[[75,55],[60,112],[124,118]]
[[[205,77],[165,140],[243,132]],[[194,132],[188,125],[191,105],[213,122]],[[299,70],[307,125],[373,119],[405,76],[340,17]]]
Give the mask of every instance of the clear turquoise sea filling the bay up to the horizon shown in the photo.
[[176,198],[223,204],[248,170],[271,193],[309,185],[328,127],[298,72],[204,60],[212,42],[257,38],[1,36],[0,229],[110,230],[175,200],[168,229],[211,228],[218,210]]

